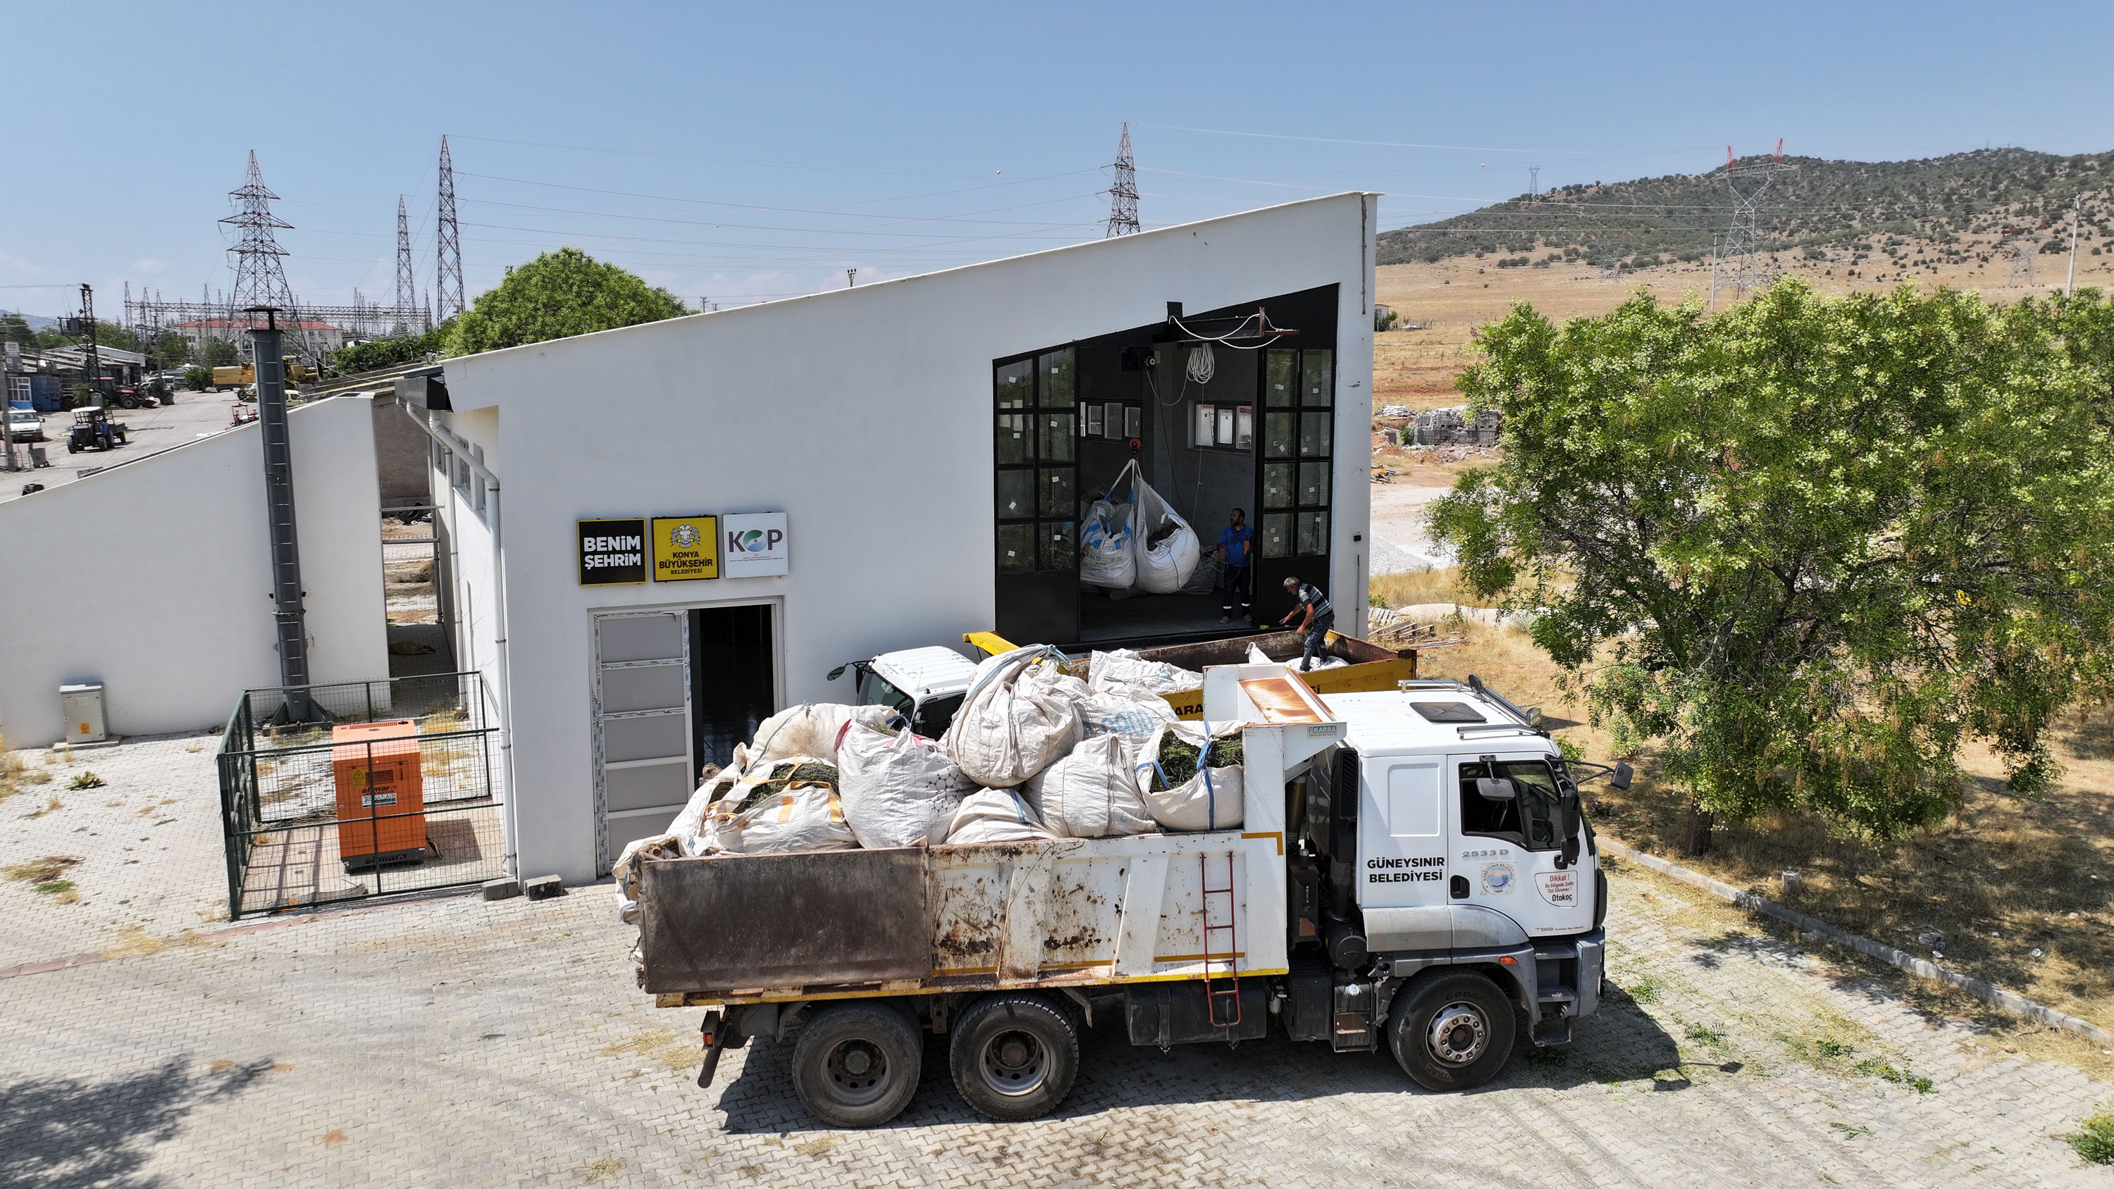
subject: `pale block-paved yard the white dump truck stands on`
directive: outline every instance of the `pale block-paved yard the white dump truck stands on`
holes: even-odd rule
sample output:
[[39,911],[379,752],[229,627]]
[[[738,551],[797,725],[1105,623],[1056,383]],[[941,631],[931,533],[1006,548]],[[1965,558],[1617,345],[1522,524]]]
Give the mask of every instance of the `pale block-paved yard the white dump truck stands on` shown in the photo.
[[[203,809],[199,754],[159,741],[142,762],[150,748],[184,773],[180,809]],[[27,811],[0,805],[4,864],[49,841],[17,830]],[[118,891],[99,881],[123,872],[82,864],[70,906],[0,889],[8,952],[97,948]],[[1615,889],[1626,995],[1577,1048],[1476,1094],[1285,1041],[1133,1050],[1104,1020],[1051,1119],[977,1121],[932,1045],[877,1132],[808,1121],[786,1045],[734,1052],[696,1090],[698,1012],[632,988],[607,887],[273,923],[0,978],[0,1183],[2114,1185],[2051,1138],[2108,1086],[1831,976],[1689,889],[1628,872]]]

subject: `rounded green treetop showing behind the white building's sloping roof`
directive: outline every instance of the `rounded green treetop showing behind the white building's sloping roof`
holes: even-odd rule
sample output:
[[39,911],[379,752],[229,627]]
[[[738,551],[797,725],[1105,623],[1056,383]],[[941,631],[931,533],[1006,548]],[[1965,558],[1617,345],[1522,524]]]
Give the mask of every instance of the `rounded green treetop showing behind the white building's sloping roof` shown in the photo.
[[560,247],[509,270],[499,287],[486,289],[457,319],[448,336],[448,355],[594,334],[683,313],[687,310],[674,294],[653,289],[577,247]]

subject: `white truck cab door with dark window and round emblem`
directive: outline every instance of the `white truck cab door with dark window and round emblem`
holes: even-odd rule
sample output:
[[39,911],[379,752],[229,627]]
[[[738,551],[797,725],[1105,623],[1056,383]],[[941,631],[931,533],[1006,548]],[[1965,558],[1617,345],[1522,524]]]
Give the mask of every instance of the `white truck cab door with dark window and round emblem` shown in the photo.
[[[1562,864],[1562,815],[1556,775],[1543,754],[1484,752],[1446,758],[1444,796],[1452,809],[1452,900],[1503,912],[1526,936],[1581,933],[1592,927],[1592,870]],[[1512,798],[1482,796],[1480,781],[1501,777]]]

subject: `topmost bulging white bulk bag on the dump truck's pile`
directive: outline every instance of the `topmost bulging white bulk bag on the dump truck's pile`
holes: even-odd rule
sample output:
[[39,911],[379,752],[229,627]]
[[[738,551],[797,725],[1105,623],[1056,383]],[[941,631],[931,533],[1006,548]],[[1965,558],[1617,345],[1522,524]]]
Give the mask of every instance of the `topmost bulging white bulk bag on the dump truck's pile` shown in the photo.
[[977,680],[941,737],[947,758],[968,779],[1013,788],[1087,735],[1078,714],[1087,682],[1063,676],[1061,661],[1055,648],[1030,644],[977,665]]

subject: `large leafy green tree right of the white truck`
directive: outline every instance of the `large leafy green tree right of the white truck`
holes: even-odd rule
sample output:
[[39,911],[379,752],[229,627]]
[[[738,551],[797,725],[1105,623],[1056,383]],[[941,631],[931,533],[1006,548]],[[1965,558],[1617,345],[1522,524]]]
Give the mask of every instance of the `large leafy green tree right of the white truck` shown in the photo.
[[[1983,737],[2013,788],[2106,697],[2114,648],[2114,304],[1829,300],[1784,281],[1708,317],[1649,296],[1526,306],[1461,378],[1505,458],[1435,503],[1467,583],[1617,739],[1657,737],[1714,813],[1871,836],[1934,822]],[[1564,583],[1571,583],[1564,587]]]

